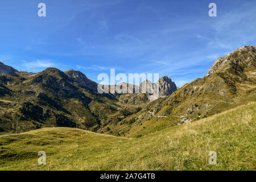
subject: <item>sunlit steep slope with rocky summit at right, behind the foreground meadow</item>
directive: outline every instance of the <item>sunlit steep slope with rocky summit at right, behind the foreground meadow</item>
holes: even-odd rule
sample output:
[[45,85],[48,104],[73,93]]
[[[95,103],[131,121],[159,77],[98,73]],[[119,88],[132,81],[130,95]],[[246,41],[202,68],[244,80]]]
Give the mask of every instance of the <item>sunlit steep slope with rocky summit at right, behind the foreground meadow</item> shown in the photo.
[[203,78],[185,84],[170,96],[148,102],[139,113],[111,126],[110,132],[141,137],[250,101],[256,101],[256,46],[244,46],[220,57]]

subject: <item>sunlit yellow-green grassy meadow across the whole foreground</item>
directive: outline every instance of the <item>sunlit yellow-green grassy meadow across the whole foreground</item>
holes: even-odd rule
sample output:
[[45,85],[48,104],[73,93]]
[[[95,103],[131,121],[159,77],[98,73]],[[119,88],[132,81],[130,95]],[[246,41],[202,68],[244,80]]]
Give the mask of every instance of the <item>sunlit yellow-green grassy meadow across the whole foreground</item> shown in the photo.
[[[52,127],[0,136],[1,170],[255,170],[256,103],[141,138]],[[39,166],[38,152],[47,164]],[[217,164],[208,164],[209,151]]]

